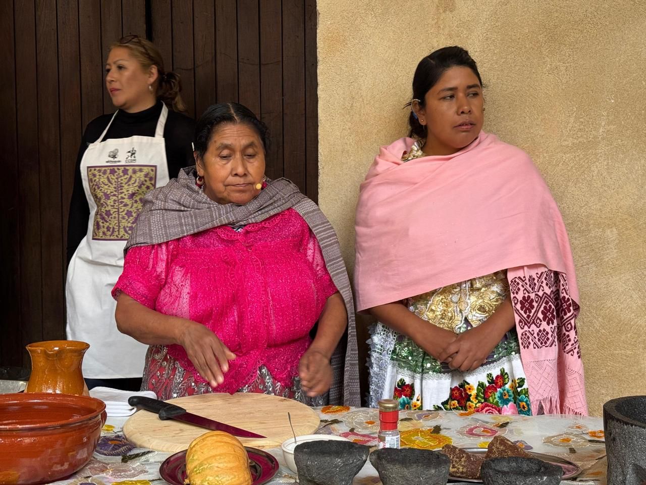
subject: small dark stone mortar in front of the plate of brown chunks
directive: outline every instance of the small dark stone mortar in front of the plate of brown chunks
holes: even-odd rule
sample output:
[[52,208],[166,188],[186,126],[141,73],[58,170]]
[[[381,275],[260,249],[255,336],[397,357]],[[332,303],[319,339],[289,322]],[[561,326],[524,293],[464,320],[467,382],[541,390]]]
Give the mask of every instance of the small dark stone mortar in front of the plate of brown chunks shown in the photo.
[[563,468],[537,458],[491,458],[480,476],[485,485],[559,485]]

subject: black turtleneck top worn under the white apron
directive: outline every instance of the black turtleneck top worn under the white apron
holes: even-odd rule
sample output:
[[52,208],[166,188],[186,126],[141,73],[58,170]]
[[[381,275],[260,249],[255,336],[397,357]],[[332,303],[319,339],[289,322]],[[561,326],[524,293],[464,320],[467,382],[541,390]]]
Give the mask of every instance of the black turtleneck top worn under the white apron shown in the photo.
[[[161,114],[161,101],[156,105],[140,111],[139,113],[127,113],[119,111],[110,125],[108,133],[103,140],[110,138],[129,138],[130,136],[155,136],[157,120]],[[79,154],[76,158],[74,169],[74,188],[72,189],[72,200],[70,202],[70,213],[67,222],[67,263],[69,264],[72,255],[76,251],[83,237],[87,235],[87,224],[90,218],[90,206],[85,198],[83,181],[81,180],[81,158],[85,149],[90,143],[96,142],[103,133],[105,127],[112,119],[112,113],[103,114],[92,120],[85,128]],[[193,160],[193,131],[195,122],[184,114],[169,109],[166,125],[163,130],[163,137],[166,146],[166,162],[170,178],[177,177],[183,167],[194,165]]]

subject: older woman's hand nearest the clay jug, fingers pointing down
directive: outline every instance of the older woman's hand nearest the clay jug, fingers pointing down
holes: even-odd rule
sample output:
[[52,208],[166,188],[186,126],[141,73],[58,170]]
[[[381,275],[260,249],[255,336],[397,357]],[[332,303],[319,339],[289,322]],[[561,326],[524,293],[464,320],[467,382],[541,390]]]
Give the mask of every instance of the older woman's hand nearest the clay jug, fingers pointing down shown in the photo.
[[178,343],[186,350],[187,356],[200,375],[211,387],[224,382],[224,374],[229,370],[229,361],[236,355],[204,325],[185,320],[186,325],[178,338]]

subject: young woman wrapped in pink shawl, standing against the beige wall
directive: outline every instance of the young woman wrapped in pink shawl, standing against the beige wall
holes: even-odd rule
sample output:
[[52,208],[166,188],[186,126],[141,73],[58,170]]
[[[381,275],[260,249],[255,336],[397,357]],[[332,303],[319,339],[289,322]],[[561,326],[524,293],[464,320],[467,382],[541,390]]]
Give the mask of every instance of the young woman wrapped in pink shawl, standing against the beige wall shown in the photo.
[[361,184],[355,289],[371,330],[370,402],[587,414],[579,294],[561,214],[530,157],[482,131],[474,59],[423,58],[410,136]]

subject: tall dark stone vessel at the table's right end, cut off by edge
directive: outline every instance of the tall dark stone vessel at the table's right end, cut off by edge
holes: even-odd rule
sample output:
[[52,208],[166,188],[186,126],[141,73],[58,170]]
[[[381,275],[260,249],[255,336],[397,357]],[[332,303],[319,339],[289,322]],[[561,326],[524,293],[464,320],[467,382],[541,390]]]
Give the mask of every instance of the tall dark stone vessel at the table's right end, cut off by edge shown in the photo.
[[608,485],[646,483],[646,396],[627,396],[603,405]]

